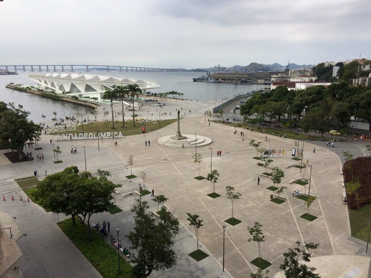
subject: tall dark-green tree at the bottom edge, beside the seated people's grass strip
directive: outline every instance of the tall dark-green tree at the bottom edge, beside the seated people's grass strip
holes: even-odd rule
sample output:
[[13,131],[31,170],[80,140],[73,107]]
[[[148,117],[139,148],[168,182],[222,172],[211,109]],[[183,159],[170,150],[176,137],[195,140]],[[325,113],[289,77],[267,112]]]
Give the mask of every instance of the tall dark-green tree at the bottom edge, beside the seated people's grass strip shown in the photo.
[[160,214],[161,221],[152,219],[146,201],[136,200],[131,207],[134,225],[125,235],[136,254],[131,255],[134,277],[148,277],[152,271],[172,268],[177,262],[173,250],[175,236],[179,234],[179,221],[172,214]]

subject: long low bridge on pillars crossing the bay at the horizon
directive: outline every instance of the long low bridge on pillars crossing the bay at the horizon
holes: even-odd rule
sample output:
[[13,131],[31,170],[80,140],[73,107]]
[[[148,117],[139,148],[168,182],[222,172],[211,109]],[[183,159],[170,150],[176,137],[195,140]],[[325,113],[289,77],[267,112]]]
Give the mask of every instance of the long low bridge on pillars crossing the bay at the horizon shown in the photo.
[[[17,71],[17,68],[23,69],[23,71],[26,71],[26,67],[30,69],[31,72],[38,71],[42,72],[43,69],[46,72],[56,72],[57,67],[61,67],[62,69],[60,70],[61,72],[74,72],[75,70],[73,67],[86,67],[85,72],[89,72],[89,67],[106,67],[107,72],[110,72],[110,69],[116,68],[119,69],[118,72],[187,72],[188,70],[185,69],[162,69],[162,68],[157,68],[157,67],[132,67],[132,66],[106,66],[106,65],[77,65],[77,64],[36,64],[36,65],[4,65],[0,66],[2,68],[5,67],[6,70],[8,68],[13,69],[14,71]],[[43,69],[42,69],[43,67]],[[58,69],[59,70],[59,69]]]

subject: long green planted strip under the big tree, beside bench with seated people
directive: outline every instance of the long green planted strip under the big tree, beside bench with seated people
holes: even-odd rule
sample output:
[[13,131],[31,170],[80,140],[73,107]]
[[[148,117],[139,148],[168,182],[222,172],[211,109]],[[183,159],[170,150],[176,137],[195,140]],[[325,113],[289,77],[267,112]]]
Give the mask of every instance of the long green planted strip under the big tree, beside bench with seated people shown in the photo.
[[92,231],[92,241],[88,242],[88,234],[76,218],[76,227],[72,226],[71,218],[58,223],[59,228],[68,236],[73,244],[88,259],[102,277],[132,277],[132,266],[120,256],[121,276],[118,274],[117,250]]

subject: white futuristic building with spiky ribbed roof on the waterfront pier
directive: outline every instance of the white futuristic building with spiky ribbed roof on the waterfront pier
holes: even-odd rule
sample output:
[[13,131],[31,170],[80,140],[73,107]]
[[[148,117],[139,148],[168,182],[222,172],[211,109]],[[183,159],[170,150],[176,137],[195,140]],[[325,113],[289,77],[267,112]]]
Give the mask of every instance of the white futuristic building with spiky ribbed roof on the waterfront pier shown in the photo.
[[141,90],[160,88],[161,85],[153,81],[140,79],[121,79],[107,75],[78,74],[78,73],[43,73],[28,76],[47,89],[56,93],[68,93],[70,96],[98,97],[103,99],[105,90],[115,89],[116,86],[127,86],[137,84]]

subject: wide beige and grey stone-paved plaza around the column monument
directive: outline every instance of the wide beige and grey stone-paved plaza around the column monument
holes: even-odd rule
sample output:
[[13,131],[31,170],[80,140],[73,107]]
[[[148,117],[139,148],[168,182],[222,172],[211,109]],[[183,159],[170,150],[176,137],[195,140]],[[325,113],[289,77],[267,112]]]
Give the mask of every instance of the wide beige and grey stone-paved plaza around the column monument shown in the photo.
[[[114,140],[107,139],[100,142],[98,152],[97,140],[73,140],[59,141],[57,144],[62,149],[59,156],[63,163],[53,163],[52,145],[49,135],[43,135],[42,152],[45,160],[23,163],[6,163],[3,155],[0,155],[1,183],[13,181],[14,178],[31,176],[35,168],[42,176],[47,173],[54,173],[67,166],[76,165],[85,170],[84,153],[82,146],[86,146],[86,166],[88,171],[95,171],[97,168],[111,171],[112,181],[123,184],[118,188],[119,194],[116,197],[118,206],[123,210],[118,214],[104,214],[92,216],[92,222],[101,223],[103,220],[111,222],[111,230],[120,228],[122,235],[127,233],[132,225],[132,216],[129,212],[130,205],[137,195],[125,198],[121,194],[138,190],[140,172],[147,173],[146,188],[154,189],[156,195],[164,194],[169,198],[166,203],[168,209],[181,222],[181,233],[177,236],[175,251],[178,254],[177,265],[165,272],[154,272],[150,277],[247,277],[249,273],[257,268],[250,262],[258,256],[257,245],[248,242],[250,235],[247,226],[253,226],[254,222],[262,224],[265,242],[262,244],[262,258],[271,262],[269,267],[270,276],[279,275],[279,265],[283,261],[283,252],[289,247],[294,247],[296,241],[319,243],[319,248],[313,250],[313,262],[321,261],[331,264],[336,256],[336,261],[344,268],[342,272],[336,272],[331,276],[331,269],[324,264],[314,264],[322,277],[343,277],[349,271],[357,273],[357,277],[368,276],[368,265],[352,265],[349,258],[363,256],[365,247],[350,241],[350,226],[347,206],[342,203],[341,186],[342,176],[339,173],[341,167],[342,150],[350,150],[355,156],[363,155],[365,144],[337,143],[334,149],[326,147],[326,142],[304,143],[304,160],[309,160],[312,165],[311,194],[317,198],[313,202],[309,213],[318,218],[309,222],[300,216],[306,213],[305,202],[292,196],[296,189],[304,191],[304,186],[289,181],[300,177],[300,169],[295,167],[286,168],[295,164],[292,160],[291,149],[297,148],[295,140],[284,139],[276,136],[267,136],[250,130],[237,128],[237,134],[233,127],[211,122],[210,126],[206,120],[204,123],[204,106],[210,103],[172,102],[167,109],[175,116],[175,108],[183,106],[187,110],[194,109],[194,117],[181,120],[181,132],[184,134],[197,133],[201,136],[211,138],[210,145],[197,147],[197,153],[201,153],[203,161],[200,163],[200,174],[207,176],[210,173],[212,148],[212,169],[217,169],[220,177],[216,184],[215,192],[221,196],[212,199],[207,194],[213,192],[213,187],[206,180],[194,179],[198,176],[197,163],[193,162],[192,153],[196,148],[173,148],[160,145],[157,140],[163,136],[173,135],[177,130],[177,124],[173,123],[153,133],[147,132],[141,135],[127,136],[118,141],[114,146]],[[109,106],[105,106],[109,107]],[[192,108],[190,108],[192,107]],[[101,107],[102,109],[102,107]],[[145,108],[146,109],[146,108]],[[151,109],[155,109],[151,107]],[[170,110],[168,110],[170,111]],[[188,114],[188,113],[187,113]],[[172,117],[175,118],[175,117]],[[244,140],[239,132],[244,132]],[[286,155],[282,158],[275,158],[272,166],[276,166],[285,172],[282,185],[287,189],[281,193],[286,198],[282,204],[270,201],[270,194],[273,192],[266,189],[272,186],[272,180],[265,178],[259,173],[265,172],[265,168],[257,166],[257,160],[253,159],[256,152],[249,146],[249,141],[255,139],[262,141],[263,148],[285,149]],[[151,141],[151,146],[146,146],[145,141]],[[75,146],[78,153],[71,154],[69,148]],[[316,153],[313,153],[313,148]],[[216,151],[222,150],[221,156],[216,156]],[[26,150],[27,151],[27,150]],[[4,152],[4,151],[2,151]],[[40,150],[41,152],[41,150]],[[34,153],[35,155],[35,153]],[[133,173],[138,178],[130,181],[125,178],[130,173],[125,162],[129,155],[134,157]],[[268,169],[269,170],[269,169]],[[269,171],[268,171],[269,172]],[[257,178],[260,177],[260,185],[257,185]],[[309,179],[309,171],[305,172],[304,178]],[[242,223],[232,226],[224,220],[232,216],[232,205],[226,198],[226,186],[233,186],[236,192],[242,196],[234,204],[234,217]],[[58,216],[46,213],[42,208],[32,202],[8,201],[11,195],[17,196],[23,191],[17,189],[16,183],[2,186],[2,192],[7,198],[3,202],[2,211],[16,216],[16,222],[23,233],[17,242],[23,256],[20,258],[20,267],[25,277],[34,277],[38,269],[42,268],[43,273],[55,277],[68,276],[68,273],[59,273],[63,268],[67,271],[81,273],[81,277],[99,277],[99,274],[91,264],[82,256],[69,239],[55,224]],[[306,187],[308,191],[308,185]],[[13,191],[13,192],[12,192]],[[8,192],[8,193],[7,193]],[[149,201],[151,209],[157,205],[151,201],[151,196],[144,196]],[[196,249],[194,231],[188,225],[186,212],[200,215],[204,226],[199,230],[200,248],[210,252],[210,256],[200,262],[191,259],[187,254]],[[59,215],[59,220],[63,216]],[[221,272],[223,262],[223,229],[225,232],[225,267],[227,272]],[[120,234],[121,234],[120,232]],[[122,239],[122,238],[121,238]],[[124,242],[129,245],[128,242]],[[354,257],[358,255],[357,257]],[[54,257],[53,257],[54,256]],[[67,259],[68,258],[68,262]],[[73,262],[70,262],[70,258]],[[318,258],[318,259],[317,259]],[[369,262],[368,257],[359,257],[365,263]],[[355,269],[353,269],[355,268]],[[323,270],[322,270],[323,269]],[[53,272],[54,271],[54,272]],[[335,273],[335,272],[334,272]],[[325,275],[330,274],[330,276]]]

